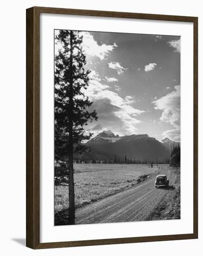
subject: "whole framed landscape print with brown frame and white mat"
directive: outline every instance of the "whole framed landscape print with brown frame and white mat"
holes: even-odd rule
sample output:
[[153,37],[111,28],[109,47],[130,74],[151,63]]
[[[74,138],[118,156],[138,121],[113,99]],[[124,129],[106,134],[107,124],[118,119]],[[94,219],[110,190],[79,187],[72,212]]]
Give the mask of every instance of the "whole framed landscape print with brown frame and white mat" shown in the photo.
[[26,10],[26,246],[198,237],[197,17]]

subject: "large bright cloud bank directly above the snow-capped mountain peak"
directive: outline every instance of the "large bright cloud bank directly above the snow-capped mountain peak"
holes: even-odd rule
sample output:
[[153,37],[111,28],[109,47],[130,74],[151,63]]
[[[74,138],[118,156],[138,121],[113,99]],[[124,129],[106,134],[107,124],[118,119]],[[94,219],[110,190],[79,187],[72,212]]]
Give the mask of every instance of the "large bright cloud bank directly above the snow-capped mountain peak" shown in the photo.
[[[97,78],[97,73],[95,76]],[[120,97],[109,86],[98,81],[98,78],[91,80],[83,93],[93,101],[89,110],[96,109],[98,122],[103,129],[112,130],[119,135],[137,132],[137,125],[141,122],[138,117],[145,111],[132,107],[132,103],[135,102],[133,96]],[[92,121],[87,126],[88,129],[95,131],[94,134],[97,134],[97,130],[94,129],[96,124],[96,121]]]

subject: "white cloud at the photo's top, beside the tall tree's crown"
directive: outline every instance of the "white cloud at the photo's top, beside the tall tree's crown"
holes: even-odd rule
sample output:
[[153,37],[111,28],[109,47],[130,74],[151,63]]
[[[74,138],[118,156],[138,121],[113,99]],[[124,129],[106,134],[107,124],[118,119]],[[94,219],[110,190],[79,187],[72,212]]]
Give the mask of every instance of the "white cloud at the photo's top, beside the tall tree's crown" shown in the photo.
[[83,35],[83,48],[85,53],[91,56],[97,56],[100,60],[104,60],[113,49],[118,47],[116,43],[113,43],[112,45],[98,45],[90,32],[80,32],[80,34]]

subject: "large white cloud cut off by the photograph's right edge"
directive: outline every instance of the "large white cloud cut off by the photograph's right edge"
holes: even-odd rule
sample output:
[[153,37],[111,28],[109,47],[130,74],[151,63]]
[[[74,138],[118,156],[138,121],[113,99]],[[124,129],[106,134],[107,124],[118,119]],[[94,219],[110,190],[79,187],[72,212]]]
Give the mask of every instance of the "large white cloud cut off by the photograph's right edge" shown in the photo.
[[[163,133],[164,137],[177,140],[180,137],[180,85],[174,87],[175,90],[165,96],[153,101],[155,109],[162,110],[160,120],[170,123],[174,129]],[[166,136],[167,135],[167,136]]]

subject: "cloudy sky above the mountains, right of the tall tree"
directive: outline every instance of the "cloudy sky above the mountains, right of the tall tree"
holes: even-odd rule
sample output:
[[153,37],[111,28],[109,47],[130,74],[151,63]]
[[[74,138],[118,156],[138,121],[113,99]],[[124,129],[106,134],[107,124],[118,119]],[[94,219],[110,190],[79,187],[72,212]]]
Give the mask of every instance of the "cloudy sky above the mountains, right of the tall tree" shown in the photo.
[[92,70],[85,94],[98,115],[86,129],[180,141],[180,37],[80,33]]

